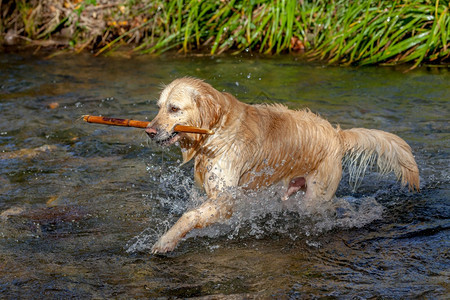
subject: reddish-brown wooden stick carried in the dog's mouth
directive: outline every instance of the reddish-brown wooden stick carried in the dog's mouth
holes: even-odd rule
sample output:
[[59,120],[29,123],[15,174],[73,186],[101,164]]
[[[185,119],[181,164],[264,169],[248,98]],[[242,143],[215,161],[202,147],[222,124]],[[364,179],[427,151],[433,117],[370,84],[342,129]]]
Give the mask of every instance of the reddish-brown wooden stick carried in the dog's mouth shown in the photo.
[[[148,121],[137,121],[131,119],[118,119],[118,118],[90,116],[90,115],[84,115],[83,120],[88,123],[97,123],[112,126],[136,127],[136,128],[147,128],[148,124],[150,124],[150,122]],[[214,134],[214,131],[209,129],[185,125],[175,125],[173,130],[176,132],[186,132],[186,133]]]

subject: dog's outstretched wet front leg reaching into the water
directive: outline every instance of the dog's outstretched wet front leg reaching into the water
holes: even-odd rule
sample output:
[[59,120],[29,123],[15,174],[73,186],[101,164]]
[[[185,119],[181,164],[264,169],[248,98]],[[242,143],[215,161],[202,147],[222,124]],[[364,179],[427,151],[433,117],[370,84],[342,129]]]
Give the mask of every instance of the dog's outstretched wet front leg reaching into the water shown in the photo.
[[152,253],[172,251],[192,229],[203,228],[231,216],[231,205],[225,199],[209,200],[200,207],[184,213],[181,218],[153,245]]

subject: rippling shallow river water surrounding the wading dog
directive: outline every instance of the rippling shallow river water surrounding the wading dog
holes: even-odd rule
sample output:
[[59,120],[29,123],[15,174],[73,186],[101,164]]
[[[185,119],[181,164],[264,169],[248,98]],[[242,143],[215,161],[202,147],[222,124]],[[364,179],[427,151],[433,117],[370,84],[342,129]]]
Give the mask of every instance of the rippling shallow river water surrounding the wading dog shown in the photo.
[[[45,58],[0,54],[1,298],[450,297],[450,71],[340,68],[292,56]],[[342,128],[401,136],[421,192],[345,175],[335,210],[311,215],[277,190],[242,195],[224,224],[174,252],[149,249],[205,199],[192,163],[141,129],[162,84],[203,78],[247,103],[308,107]]]

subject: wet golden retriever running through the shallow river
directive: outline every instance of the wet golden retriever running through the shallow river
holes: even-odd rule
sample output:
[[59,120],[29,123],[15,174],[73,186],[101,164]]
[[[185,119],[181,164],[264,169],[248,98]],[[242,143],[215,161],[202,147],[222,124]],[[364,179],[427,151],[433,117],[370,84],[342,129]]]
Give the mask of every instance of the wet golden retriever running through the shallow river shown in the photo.
[[[195,78],[166,86],[158,106],[148,135],[161,145],[178,142],[184,163],[195,159],[195,181],[208,200],[183,214],[155,243],[153,253],[172,251],[190,230],[229,218],[236,187],[259,189],[282,182],[282,200],[303,190],[303,201],[313,207],[333,198],[346,162],[355,183],[376,164],[380,173],[394,172],[402,184],[419,189],[411,148],[391,133],[342,130],[309,110],[248,105]],[[178,133],[173,130],[178,124],[215,133]]]

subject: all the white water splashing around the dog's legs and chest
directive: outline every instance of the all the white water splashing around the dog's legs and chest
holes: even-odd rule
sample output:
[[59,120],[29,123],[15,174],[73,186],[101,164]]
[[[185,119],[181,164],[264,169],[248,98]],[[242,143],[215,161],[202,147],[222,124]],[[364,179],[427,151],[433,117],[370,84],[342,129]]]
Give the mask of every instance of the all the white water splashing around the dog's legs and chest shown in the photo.
[[[148,167],[154,174],[152,168],[158,166]],[[126,246],[127,252],[150,250],[182,213],[207,200],[204,192],[194,186],[189,173],[190,170],[172,164],[165,166],[165,172],[161,172],[160,177],[153,177],[158,184],[158,191],[150,195],[148,201],[153,202],[155,208],[151,217],[151,226],[154,227],[145,229],[130,240]],[[303,238],[309,246],[319,247],[315,237],[333,229],[363,227],[380,219],[383,213],[383,206],[373,197],[335,197],[330,202],[310,207],[303,202],[304,193],[299,192],[289,200],[281,201],[283,193],[281,184],[259,191],[237,188],[231,193],[235,206],[230,219],[193,230],[185,239],[262,239],[277,234],[291,240]]]

